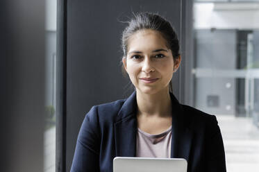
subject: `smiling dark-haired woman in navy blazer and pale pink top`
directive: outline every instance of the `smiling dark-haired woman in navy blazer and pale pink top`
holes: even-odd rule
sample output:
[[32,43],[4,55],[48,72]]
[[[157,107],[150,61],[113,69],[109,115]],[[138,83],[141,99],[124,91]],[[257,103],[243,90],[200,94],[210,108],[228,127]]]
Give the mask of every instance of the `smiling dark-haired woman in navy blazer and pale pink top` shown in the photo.
[[114,157],[178,157],[187,160],[188,172],[226,171],[216,117],[181,105],[172,94],[181,55],[169,22],[148,12],[135,15],[122,48],[135,92],[86,114],[71,171],[112,172]]

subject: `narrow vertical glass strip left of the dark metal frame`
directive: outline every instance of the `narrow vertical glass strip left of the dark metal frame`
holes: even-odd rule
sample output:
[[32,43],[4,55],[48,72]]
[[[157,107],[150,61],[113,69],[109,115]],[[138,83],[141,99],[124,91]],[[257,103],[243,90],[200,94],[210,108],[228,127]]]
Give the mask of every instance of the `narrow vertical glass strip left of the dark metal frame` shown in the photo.
[[56,171],[56,0],[46,0],[46,126],[44,172]]

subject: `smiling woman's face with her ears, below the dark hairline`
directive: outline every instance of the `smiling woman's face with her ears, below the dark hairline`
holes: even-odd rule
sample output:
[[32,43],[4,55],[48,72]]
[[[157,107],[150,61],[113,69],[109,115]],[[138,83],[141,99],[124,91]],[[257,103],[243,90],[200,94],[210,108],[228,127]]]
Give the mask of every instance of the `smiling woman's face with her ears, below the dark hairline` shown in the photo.
[[128,53],[123,58],[124,68],[137,92],[145,94],[169,92],[169,82],[180,62],[181,57],[174,61],[162,35],[149,29],[129,38]]

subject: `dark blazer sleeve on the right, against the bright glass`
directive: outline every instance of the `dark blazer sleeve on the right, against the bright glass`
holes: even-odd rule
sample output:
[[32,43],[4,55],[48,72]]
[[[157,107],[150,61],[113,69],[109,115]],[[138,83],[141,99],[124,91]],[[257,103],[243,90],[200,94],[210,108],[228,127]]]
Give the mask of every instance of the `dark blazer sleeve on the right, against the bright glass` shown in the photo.
[[215,115],[210,116],[207,126],[206,141],[206,171],[226,172],[226,160],[222,133],[220,132]]

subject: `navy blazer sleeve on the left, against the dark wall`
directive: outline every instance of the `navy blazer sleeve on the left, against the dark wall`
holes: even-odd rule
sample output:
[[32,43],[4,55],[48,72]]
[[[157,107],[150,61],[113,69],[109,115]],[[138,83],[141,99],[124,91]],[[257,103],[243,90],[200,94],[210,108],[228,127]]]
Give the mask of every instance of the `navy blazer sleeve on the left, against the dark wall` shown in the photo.
[[99,172],[100,132],[98,123],[98,110],[94,106],[83,120],[70,172]]

